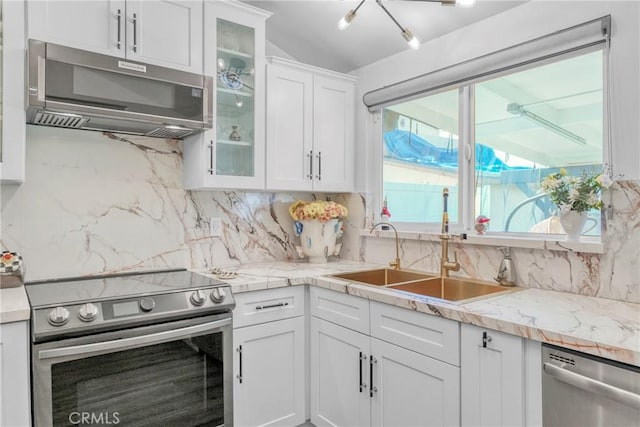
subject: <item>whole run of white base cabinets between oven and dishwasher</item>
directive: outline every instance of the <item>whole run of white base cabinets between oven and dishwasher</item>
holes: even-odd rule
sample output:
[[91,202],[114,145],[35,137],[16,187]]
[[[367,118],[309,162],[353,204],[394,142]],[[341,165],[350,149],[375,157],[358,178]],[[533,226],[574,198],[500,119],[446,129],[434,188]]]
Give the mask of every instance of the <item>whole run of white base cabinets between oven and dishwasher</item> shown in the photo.
[[542,425],[539,342],[316,286],[305,310],[304,295],[236,295],[234,425]]

